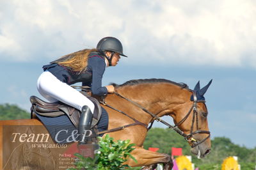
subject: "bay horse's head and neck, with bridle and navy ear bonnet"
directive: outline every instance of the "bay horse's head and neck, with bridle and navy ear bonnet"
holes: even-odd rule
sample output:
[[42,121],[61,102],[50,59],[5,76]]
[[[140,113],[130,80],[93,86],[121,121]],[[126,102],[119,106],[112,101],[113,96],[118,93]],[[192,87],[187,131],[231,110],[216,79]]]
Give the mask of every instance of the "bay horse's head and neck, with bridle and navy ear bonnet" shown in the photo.
[[[208,112],[204,98],[204,93],[210,84],[211,81],[207,86],[200,89],[198,82],[195,89],[192,90],[188,89],[186,84],[165,79],[139,79],[118,85],[116,91],[121,98],[127,97],[125,100],[131,103],[131,105],[122,105],[122,108],[131,113],[131,117],[143,123],[147,124],[157,120],[173,128],[172,125],[160,118],[164,115],[172,116],[175,123],[173,129],[185,137],[191,145],[191,152],[202,158],[211,150],[210,132],[207,123]],[[122,97],[119,93],[124,94],[125,97]],[[116,98],[112,100],[117,101]],[[141,110],[138,110],[138,108]],[[137,110],[131,111],[131,109]],[[138,111],[140,111],[140,114],[138,114]]]

